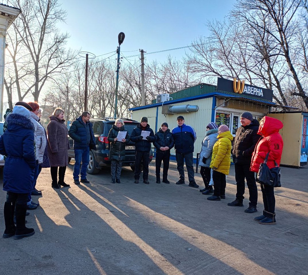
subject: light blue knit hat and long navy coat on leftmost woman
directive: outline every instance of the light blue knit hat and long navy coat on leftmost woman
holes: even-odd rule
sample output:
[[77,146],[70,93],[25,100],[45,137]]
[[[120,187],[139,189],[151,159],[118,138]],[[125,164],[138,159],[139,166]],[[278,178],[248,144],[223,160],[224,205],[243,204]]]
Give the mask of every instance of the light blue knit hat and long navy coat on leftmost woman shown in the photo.
[[[18,113],[19,109],[22,109],[23,115]],[[30,111],[23,106],[15,106],[6,120],[7,130],[0,138],[0,154],[6,156],[3,190],[29,193],[33,189],[36,167],[34,125],[30,121]]]

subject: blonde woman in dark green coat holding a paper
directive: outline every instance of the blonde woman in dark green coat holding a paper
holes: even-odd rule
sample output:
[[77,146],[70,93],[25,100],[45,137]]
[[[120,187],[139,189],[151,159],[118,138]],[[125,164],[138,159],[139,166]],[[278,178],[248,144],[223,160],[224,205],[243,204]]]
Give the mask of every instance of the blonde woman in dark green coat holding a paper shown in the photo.
[[120,183],[122,164],[125,159],[125,145],[129,143],[128,131],[124,128],[124,121],[116,119],[108,134],[110,142],[109,160],[111,160],[111,183]]

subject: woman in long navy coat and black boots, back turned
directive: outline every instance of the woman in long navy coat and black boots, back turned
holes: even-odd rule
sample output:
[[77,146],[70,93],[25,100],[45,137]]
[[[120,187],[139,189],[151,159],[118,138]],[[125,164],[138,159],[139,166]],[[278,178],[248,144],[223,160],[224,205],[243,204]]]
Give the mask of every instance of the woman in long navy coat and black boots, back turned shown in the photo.
[[14,239],[18,240],[34,234],[33,228],[25,226],[27,199],[33,189],[34,168],[37,165],[34,152],[34,125],[30,121],[30,111],[23,106],[14,106],[6,121],[7,130],[0,138],[0,154],[6,156],[3,190],[8,194],[4,204],[3,238],[15,235]]

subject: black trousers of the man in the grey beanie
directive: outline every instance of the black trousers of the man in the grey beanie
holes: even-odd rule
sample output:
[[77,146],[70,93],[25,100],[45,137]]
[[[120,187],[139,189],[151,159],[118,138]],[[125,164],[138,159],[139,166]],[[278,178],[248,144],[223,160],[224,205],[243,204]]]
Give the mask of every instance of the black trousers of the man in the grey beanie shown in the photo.
[[236,198],[241,202],[244,200],[245,193],[245,178],[249,190],[249,206],[257,207],[258,191],[254,177],[254,172],[251,172],[250,164],[234,164],[235,180],[236,180]]

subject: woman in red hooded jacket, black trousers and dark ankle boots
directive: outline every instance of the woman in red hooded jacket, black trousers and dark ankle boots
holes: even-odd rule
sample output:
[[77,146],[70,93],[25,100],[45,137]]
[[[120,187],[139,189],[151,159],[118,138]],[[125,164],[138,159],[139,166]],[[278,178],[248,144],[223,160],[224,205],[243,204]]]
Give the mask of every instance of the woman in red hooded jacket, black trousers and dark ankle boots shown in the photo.
[[[259,172],[260,164],[264,162],[267,153],[270,153],[267,160],[267,166],[271,169],[275,167],[275,161],[280,165],[283,140],[279,134],[283,124],[280,120],[265,116],[260,121],[258,134],[262,137],[257,142],[252,155],[250,171]],[[275,224],[275,196],[274,187],[261,184],[264,210],[263,215],[255,217],[260,224]]]

